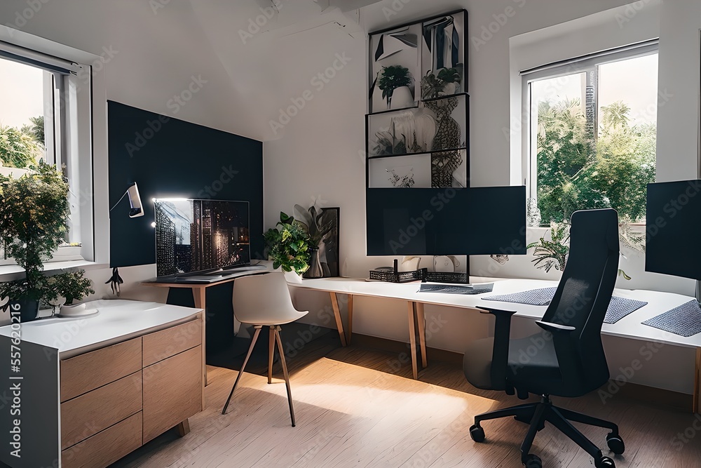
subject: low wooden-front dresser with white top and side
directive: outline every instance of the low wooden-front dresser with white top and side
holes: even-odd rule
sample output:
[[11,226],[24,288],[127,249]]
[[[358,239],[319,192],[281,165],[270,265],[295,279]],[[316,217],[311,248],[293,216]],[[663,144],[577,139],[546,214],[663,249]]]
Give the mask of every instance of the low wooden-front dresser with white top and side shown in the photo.
[[[188,418],[203,409],[203,312],[146,302],[100,302],[95,304],[100,313],[93,317],[22,325],[22,347],[32,354],[33,345],[43,345],[44,356],[55,361],[57,411],[55,418],[46,408],[43,415],[25,413],[20,424],[22,457],[8,456],[8,450],[0,453],[11,467],[104,468],[169,429],[177,427],[184,436]],[[6,335],[4,328],[0,339]],[[100,333],[113,336],[100,342],[90,339],[104,337]],[[53,350],[47,347],[52,339]],[[27,392],[30,384],[43,385],[41,398],[52,399],[53,378],[41,366],[32,366],[40,374],[34,375],[30,365],[23,359],[27,371],[22,370],[22,385]],[[28,412],[32,399],[22,396]],[[42,419],[43,424],[57,424],[57,431],[35,427]],[[58,446],[51,441],[56,435]],[[29,460],[37,453],[41,459]]]

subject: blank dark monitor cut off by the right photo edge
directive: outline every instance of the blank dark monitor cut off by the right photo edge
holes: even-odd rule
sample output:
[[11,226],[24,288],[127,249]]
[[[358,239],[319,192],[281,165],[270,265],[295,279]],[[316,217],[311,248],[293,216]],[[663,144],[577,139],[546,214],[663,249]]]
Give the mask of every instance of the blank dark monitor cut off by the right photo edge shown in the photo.
[[645,270],[701,279],[701,180],[648,184]]

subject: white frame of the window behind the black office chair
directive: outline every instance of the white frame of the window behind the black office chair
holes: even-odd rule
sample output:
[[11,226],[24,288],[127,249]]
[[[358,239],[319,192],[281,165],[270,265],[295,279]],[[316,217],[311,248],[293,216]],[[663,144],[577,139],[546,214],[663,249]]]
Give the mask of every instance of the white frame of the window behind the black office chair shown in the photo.
[[620,62],[632,58],[644,57],[646,55],[658,54],[660,50],[659,40],[645,41],[643,44],[633,44],[631,46],[622,46],[601,53],[585,55],[580,58],[572,58],[569,60],[561,60],[554,64],[543,65],[519,72],[521,76],[522,86],[522,106],[524,109],[524,126],[522,126],[522,174],[525,175],[524,183],[526,185],[526,198],[530,200],[538,200],[538,161],[537,151],[533,150],[536,142],[533,142],[531,131],[531,83],[534,81],[543,81],[545,79],[555,79],[561,76],[586,73],[587,82],[592,81],[594,87],[594,140],[596,141],[599,135],[599,116],[598,116],[598,99],[599,99],[599,66],[608,63]]

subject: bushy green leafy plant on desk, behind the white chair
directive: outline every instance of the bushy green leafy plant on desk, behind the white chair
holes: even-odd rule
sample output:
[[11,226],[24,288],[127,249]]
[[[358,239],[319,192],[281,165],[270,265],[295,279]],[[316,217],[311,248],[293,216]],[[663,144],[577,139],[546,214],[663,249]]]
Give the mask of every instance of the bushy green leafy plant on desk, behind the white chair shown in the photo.
[[275,228],[263,234],[268,248],[268,258],[273,260],[273,268],[283,272],[302,274],[309,268],[311,238],[299,222],[280,211],[280,221]]

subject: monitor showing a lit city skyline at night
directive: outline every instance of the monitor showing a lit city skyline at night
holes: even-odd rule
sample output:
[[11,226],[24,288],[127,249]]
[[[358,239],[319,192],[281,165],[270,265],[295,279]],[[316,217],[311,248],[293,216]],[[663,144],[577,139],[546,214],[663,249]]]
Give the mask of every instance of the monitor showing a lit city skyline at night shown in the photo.
[[247,201],[156,199],[158,276],[250,262]]

